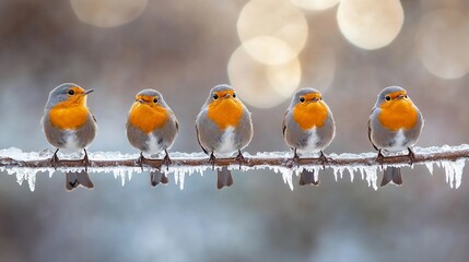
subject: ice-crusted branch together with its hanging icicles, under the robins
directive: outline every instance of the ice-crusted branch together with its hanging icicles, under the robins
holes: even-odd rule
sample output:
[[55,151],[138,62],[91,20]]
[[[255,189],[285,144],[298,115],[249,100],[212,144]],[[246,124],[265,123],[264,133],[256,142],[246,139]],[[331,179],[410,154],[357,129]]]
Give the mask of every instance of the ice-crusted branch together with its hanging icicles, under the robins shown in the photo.
[[[469,145],[442,147],[414,147],[415,159],[413,165],[424,164],[430,172],[433,172],[433,164],[443,167],[446,174],[446,181],[453,188],[458,188],[461,183],[462,168],[465,160],[469,158]],[[51,151],[44,152],[22,152],[17,148],[0,150],[0,171],[7,171],[9,175],[16,175],[17,182],[21,184],[24,180],[30,183],[30,189],[34,191],[37,172],[49,172],[51,176],[55,168],[50,164]],[[377,171],[382,169],[382,164],[376,160],[376,153],[328,155],[326,168],[332,168],[336,180],[338,176],[342,178],[344,170],[350,174],[353,181],[354,174],[360,174],[362,180],[366,180],[368,186],[377,189]],[[61,159],[60,171],[77,171],[84,168],[82,158],[79,154],[58,154]],[[120,177],[122,186],[126,178],[131,179],[133,172],[143,170],[162,169],[166,175],[174,174],[174,180],[184,189],[185,175],[200,172],[212,169],[209,157],[203,153],[171,153],[172,164],[162,166],[162,156],[157,159],[149,159],[143,168],[137,163],[139,154],[121,154],[119,152],[89,152],[90,172],[114,172],[115,178]],[[315,170],[318,174],[323,169],[323,162],[318,158],[300,158],[298,162],[292,160],[291,152],[266,152],[250,155],[244,153],[245,159],[239,163],[236,158],[219,158],[214,166],[228,166],[230,169],[239,169],[242,171],[255,169],[271,169],[274,172],[281,172],[285,183],[293,190],[293,174],[296,176],[304,169]],[[241,166],[239,166],[241,165]],[[410,159],[407,152],[402,154],[389,155],[384,158],[383,168],[387,166],[409,166]]]

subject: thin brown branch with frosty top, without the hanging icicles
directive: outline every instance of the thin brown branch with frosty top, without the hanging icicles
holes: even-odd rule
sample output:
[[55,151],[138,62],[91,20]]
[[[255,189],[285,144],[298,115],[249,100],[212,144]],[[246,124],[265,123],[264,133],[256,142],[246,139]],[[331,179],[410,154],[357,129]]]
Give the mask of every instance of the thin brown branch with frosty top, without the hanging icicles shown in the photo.
[[[448,146],[449,147],[449,146]],[[455,162],[460,158],[469,158],[469,147],[461,147],[461,150],[444,150],[439,147],[420,148],[415,151],[415,158],[413,164],[423,164],[429,162],[442,162],[449,160]],[[105,153],[104,153],[105,154]],[[277,155],[275,155],[277,154]],[[211,166],[209,158],[195,157],[172,157],[172,164],[169,167],[198,167],[198,166]],[[245,167],[256,166],[280,166],[280,167],[294,167],[294,166],[323,166],[323,162],[318,158],[300,158],[297,162],[292,159],[292,156],[288,153],[260,153],[255,156],[246,154],[244,160],[233,158],[216,158],[214,166],[227,166],[227,165],[242,165]],[[383,159],[384,165],[410,165],[410,158],[408,155],[395,155],[387,156]],[[380,166],[382,164],[376,159],[376,153],[365,154],[331,154],[328,156],[328,160],[325,163],[325,167],[347,167],[347,166]],[[48,158],[39,159],[16,159],[14,156],[7,156],[5,154],[0,155],[0,167],[3,168],[50,168],[51,163]],[[62,159],[58,166],[59,168],[80,168],[84,167],[84,163],[80,159]],[[91,168],[113,168],[113,167],[140,167],[136,158],[122,159],[116,157],[116,159],[94,159],[93,155],[90,156]],[[162,159],[146,159],[143,167],[146,168],[160,168],[162,167]]]

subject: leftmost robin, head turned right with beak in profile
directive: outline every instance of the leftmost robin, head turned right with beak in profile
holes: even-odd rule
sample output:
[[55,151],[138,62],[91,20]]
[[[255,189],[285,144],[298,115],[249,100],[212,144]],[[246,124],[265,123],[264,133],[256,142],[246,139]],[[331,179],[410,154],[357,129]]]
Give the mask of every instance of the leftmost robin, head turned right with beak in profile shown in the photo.
[[87,189],[94,188],[87,176],[86,147],[96,136],[96,119],[86,107],[86,97],[93,90],[83,90],[77,84],[65,83],[49,93],[49,98],[42,119],[43,130],[47,141],[57,150],[50,159],[57,168],[60,160],[57,156],[59,150],[69,152],[84,152],[83,164],[85,169],[80,172],[67,172],[66,188],[73,190],[79,186]]

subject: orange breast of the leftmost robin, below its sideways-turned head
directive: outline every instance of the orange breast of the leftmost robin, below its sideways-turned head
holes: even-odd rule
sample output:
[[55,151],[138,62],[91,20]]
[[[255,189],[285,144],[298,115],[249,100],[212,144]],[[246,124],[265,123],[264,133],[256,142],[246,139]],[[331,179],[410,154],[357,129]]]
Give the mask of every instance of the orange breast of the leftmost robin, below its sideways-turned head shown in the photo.
[[89,110],[85,106],[63,106],[58,105],[50,109],[50,123],[59,129],[78,129],[83,127],[87,121]]

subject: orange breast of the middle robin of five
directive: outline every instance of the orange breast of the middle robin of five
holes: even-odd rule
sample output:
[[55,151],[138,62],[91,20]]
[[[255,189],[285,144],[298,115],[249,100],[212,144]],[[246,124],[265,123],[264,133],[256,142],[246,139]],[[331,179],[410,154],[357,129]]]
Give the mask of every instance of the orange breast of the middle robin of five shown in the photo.
[[243,104],[233,98],[212,102],[208,107],[208,116],[221,130],[236,128],[243,117]]

